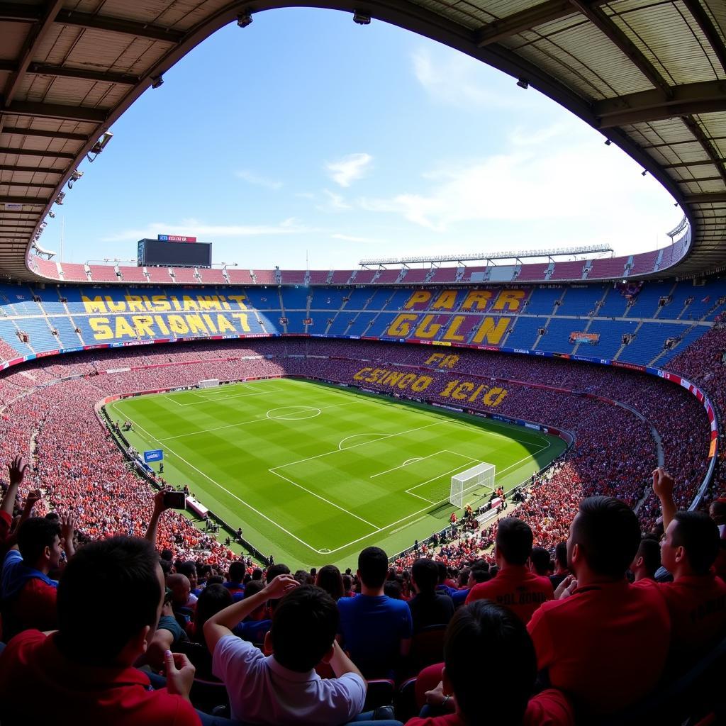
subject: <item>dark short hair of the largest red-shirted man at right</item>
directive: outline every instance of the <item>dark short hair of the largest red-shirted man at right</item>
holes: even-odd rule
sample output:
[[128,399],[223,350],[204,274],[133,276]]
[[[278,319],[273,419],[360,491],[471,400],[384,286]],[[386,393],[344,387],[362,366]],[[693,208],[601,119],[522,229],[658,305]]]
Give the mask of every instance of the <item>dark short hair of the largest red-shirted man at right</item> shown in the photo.
[[572,535],[592,571],[618,579],[640,546],[640,523],[621,499],[587,497],[580,502]]

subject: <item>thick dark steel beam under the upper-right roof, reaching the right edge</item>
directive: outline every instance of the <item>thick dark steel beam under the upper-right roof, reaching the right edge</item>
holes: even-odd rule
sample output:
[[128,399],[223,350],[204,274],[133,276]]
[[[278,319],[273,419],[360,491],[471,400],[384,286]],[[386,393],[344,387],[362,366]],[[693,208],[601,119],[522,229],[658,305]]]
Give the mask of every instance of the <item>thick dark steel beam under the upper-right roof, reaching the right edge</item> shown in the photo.
[[600,129],[661,121],[674,116],[726,111],[726,81],[704,81],[673,86],[672,97],[664,101],[661,91],[605,99],[592,105]]

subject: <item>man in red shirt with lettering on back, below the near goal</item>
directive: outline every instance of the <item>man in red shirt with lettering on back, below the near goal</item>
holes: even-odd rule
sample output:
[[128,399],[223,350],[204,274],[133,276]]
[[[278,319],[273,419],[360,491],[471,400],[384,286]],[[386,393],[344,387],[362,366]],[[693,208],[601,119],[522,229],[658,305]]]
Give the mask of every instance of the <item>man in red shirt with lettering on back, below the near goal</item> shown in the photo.
[[526,563],[532,552],[532,531],[529,524],[516,517],[507,517],[497,527],[494,559],[499,572],[489,582],[475,585],[466,603],[492,600],[510,608],[526,624],[539,605],[552,600],[552,582],[529,570]]

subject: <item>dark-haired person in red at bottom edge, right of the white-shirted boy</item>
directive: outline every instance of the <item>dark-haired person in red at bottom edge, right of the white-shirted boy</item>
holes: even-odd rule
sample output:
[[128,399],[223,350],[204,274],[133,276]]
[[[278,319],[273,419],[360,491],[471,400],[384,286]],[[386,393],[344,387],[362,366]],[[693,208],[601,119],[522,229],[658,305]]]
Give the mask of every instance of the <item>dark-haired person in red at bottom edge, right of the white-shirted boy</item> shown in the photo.
[[[472,658],[472,653],[487,658]],[[497,682],[496,698],[484,700],[482,685],[491,679],[493,663],[504,677]],[[432,684],[428,703],[443,715],[409,719],[406,726],[574,725],[571,705],[559,691],[550,688],[530,698],[537,657],[526,627],[509,608],[483,600],[460,608],[446,629],[443,665],[420,676]],[[443,682],[433,688],[439,676]]]

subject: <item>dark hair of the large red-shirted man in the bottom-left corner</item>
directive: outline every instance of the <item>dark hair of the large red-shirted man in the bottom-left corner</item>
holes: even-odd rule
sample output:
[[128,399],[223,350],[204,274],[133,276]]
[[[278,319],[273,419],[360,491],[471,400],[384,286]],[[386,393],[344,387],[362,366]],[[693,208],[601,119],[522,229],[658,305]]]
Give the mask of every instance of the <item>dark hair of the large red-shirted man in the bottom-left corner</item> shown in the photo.
[[[154,629],[163,591],[159,573],[159,556],[147,539],[111,537],[81,547],[58,584],[57,644],[64,655],[108,665],[142,628]],[[109,596],[113,592],[129,597]]]

